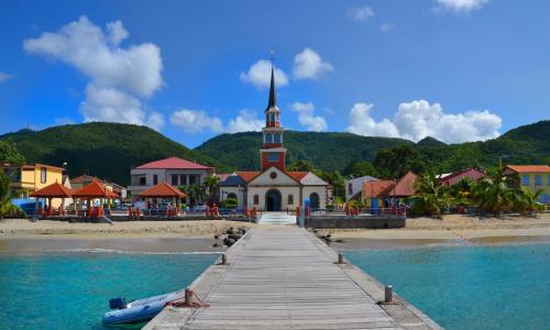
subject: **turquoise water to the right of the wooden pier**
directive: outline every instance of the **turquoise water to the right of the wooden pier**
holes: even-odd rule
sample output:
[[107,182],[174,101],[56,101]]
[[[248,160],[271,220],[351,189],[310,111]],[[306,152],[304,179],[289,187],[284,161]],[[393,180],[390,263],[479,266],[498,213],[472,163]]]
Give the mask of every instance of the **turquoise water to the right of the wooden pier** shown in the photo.
[[447,329],[549,329],[550,245],[348,251]]

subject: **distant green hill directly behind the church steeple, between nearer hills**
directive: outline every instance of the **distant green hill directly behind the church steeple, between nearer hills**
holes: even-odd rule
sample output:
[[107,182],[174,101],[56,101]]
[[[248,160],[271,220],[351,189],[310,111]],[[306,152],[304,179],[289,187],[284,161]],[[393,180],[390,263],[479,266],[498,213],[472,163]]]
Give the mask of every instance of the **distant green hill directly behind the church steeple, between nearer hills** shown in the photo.
[[[307,161],[322,170],[343,170],[359,161],[374,160],[381,148],[413,142],[391,138],[369,138],[351,133],[318,133],[285,131],[284,145],[288,150],[287,161]],[[221,163],[237,169],[260,168],[258,148],[261,132],[221,134],[208,140],[195,150],[217,157]]]

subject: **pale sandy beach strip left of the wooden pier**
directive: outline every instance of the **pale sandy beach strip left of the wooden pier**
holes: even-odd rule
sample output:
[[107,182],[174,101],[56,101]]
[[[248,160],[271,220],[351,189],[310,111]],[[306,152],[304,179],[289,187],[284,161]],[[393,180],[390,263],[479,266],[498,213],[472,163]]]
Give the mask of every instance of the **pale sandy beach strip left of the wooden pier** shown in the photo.
[[[128,221],[69,223],[25,219],[0,220],[0,252],[103,251],[140,253],[222,252],[215,240],[229,228],[254,223],[232,221]],[[219,248],[212,246],[219,243]]]

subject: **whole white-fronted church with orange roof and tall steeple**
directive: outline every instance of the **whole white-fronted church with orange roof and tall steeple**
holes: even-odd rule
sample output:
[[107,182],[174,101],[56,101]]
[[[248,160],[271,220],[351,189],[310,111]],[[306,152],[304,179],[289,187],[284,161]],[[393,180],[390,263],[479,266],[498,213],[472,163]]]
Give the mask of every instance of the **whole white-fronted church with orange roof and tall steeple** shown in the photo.
[[328,186],[311,172],[286,170],[286,148],[277,107],[275,76],[272,67],[270,101],[265,109],[263,145],[260,147],[260,170],[235,172],[220,183],[220,197],[235,198],[238,208],[260,211],[296,210],[309,204],[312,210],[324,209]]

